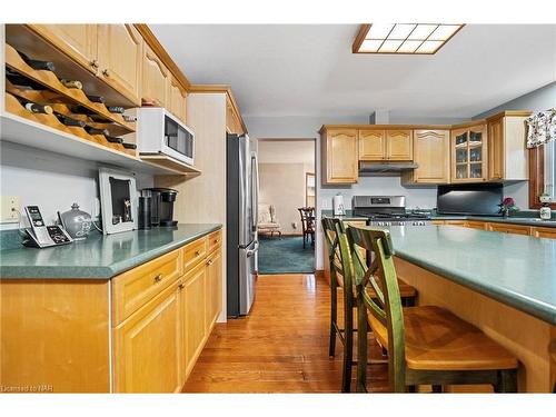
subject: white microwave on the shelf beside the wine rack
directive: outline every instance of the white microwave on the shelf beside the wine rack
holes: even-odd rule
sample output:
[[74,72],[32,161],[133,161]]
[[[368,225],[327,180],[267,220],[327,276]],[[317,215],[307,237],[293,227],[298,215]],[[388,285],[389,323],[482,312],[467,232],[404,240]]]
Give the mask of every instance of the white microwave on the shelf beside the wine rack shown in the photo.
[[163,153],[190,166],[195,165],[193,131],[165,108],[139,108],[137,123],[139,153]]

